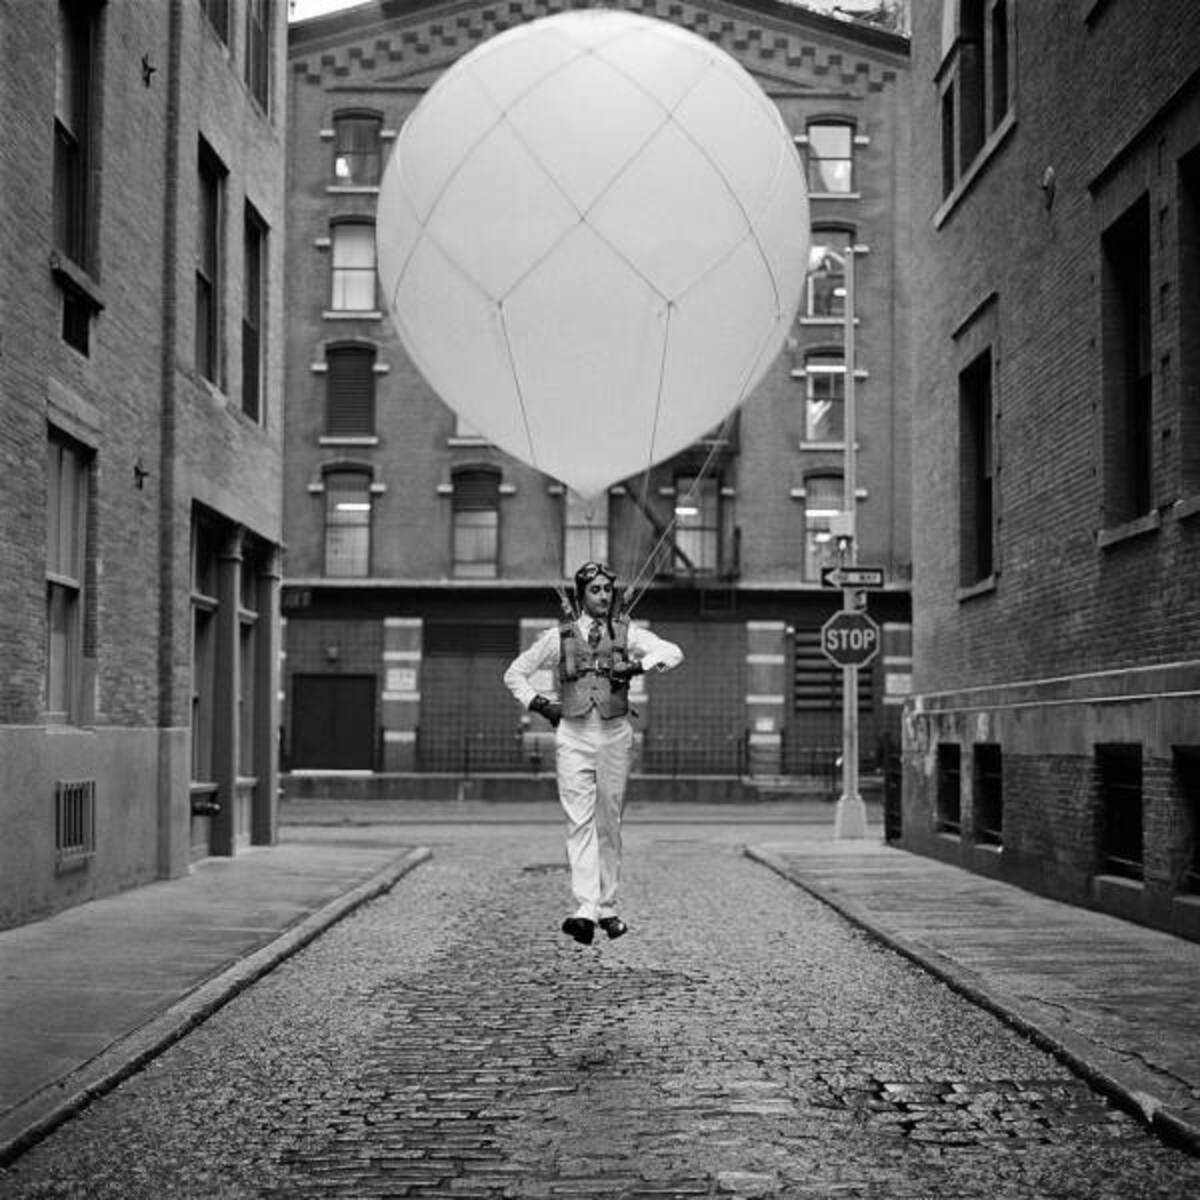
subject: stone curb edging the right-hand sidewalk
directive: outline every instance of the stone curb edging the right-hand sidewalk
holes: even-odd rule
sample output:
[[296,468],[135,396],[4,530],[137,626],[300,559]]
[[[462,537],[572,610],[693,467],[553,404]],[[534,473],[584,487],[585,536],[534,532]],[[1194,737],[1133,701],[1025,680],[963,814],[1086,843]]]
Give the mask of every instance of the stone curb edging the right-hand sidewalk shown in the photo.
[[1153,1084],[1138,1086],[1128,1066],[1115,1054],[1099,1049],[1096,1043],[1054,1025],[1043,1024],[1021,1010],[1021,1002],[1008,992],[988,984],[977,972],[947,958],[947,955],[884,929],[865,908],[853,900],[836,896],[820,884],[803,877],[782,859],[754,846],[744,847],[745,856],[770,868],[790,883],[828,905],[877,942],[902,954],[917,966],[941,979],[948,988],[965,996],[973,1004],[985,1008],[1006,1025],[1027,1037],[1042,1050],[1109,1097],[1115,1104],[1136,1117],[1156,1136],[1170,1146],[1200,1157],[1200,1126],[1172,1110],[1158,1096]]

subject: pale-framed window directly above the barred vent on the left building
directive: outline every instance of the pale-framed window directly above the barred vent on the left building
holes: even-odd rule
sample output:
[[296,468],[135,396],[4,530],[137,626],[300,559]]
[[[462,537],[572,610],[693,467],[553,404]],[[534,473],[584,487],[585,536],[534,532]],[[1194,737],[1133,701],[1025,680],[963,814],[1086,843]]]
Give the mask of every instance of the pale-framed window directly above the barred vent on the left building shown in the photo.
[[52,433],[46,467],[46,710],[50,720],[78,721],[91,456]]

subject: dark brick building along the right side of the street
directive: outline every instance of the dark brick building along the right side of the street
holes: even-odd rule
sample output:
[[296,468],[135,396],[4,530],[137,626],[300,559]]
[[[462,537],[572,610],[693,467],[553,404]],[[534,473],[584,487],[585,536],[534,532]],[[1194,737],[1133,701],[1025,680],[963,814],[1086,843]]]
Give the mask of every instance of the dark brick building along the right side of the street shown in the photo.
[[917,5],[913,79],[902,844],[1196,937],[1200,8]]

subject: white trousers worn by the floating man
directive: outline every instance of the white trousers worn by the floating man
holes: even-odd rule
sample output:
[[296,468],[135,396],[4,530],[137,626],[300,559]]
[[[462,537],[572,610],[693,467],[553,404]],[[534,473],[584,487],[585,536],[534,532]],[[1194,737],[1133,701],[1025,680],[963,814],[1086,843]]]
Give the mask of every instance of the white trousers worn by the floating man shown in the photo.
[[634,727],[624,716],[606,721],[593,708],[587,716],[559,721],[554,740],[575,916],[602,920],[617,913]]

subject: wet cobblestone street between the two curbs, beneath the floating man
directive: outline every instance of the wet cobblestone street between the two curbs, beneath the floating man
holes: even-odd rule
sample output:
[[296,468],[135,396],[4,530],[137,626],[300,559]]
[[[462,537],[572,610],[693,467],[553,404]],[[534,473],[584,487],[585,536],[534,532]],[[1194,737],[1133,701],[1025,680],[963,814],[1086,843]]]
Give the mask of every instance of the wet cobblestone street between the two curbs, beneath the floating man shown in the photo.
[[745,858],[745,829],[631,826],[631,932],[590,947],[558,931],[557,827],[413,839],[428,863],[0,1195],[1200,1195],[1200,1160]]

